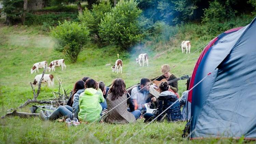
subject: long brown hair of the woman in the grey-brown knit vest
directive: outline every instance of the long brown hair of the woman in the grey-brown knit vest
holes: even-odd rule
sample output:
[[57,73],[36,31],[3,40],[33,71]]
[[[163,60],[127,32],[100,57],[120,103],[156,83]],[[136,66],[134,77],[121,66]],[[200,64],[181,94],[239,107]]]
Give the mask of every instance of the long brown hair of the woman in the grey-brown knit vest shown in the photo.
[[124,95],[124,93],[127,93],[125,89],[125,81],[122,78],[116,78],[113,80],[111,84],[111,88],[109,89],[109,93],[112,93],[111,100],[118,99],[118,97],[121,97]]

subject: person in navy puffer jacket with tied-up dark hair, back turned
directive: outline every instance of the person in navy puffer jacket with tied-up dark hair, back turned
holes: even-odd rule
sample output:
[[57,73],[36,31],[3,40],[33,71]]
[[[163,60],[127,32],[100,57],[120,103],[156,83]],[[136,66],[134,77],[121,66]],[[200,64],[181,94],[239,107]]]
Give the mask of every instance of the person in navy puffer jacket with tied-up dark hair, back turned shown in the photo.
[[157,121],[161,121],[164,118],[166,118],[167,121],[169,122],[181,120],[180,102],[177,96],[174,94],[174,92],[168,91],[169,86],[167,82],[160,83],[159,88],[160,88],[160,95],[157,99],[158,101],[157,110],[154,111],[153,114],[145,113],[144,122],[152,121],[159,114],[165,111],[170,105],[172,105],[174,102],[175,103],[167,111],[165,111],[163,114],[157,117]]

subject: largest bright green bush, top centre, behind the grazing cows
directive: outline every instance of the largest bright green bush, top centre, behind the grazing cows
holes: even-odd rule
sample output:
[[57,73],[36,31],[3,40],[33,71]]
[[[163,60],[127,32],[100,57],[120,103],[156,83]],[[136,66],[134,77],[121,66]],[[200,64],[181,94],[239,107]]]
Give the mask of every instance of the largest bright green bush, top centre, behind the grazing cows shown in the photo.
[[104,43],[127,49],[141,40],[138,26],[141,10],[134,0],[120,1],[107,13],[99,25],[99,36]]

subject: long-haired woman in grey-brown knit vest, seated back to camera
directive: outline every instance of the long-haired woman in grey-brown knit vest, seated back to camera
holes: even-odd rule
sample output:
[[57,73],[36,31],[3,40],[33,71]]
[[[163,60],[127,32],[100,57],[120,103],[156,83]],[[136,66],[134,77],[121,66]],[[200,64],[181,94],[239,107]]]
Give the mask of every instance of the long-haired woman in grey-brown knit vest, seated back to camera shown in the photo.
[[[116,78],[112,82],[108,97],[106,97],[108,110],[111,110],[104,119],[106,122],[134,123],[140,117],[141,113],[139,110],[134,110],[134,105],[125,87],[126,85],[122,78]],[[129,105],[130,112],[127,110],[127,105]]]

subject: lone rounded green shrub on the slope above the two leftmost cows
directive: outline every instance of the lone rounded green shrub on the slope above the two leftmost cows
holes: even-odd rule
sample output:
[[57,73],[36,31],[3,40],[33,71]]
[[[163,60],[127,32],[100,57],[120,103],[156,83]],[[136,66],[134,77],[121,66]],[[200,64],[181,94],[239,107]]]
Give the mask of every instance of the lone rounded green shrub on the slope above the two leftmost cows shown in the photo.
[[64,21],[56,28],[51,28],[51,34],[57,39],[55,49],[64,52],[71,62],[76,62],[83,46],[89,41],[89,30],[77,22]]

